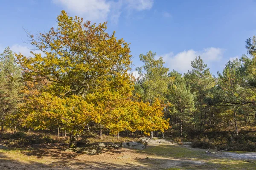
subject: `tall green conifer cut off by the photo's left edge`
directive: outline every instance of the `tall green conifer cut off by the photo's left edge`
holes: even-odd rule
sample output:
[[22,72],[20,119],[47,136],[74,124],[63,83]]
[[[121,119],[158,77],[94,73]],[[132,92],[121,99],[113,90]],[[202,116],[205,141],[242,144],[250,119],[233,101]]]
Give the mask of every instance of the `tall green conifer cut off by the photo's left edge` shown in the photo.
[[0,124],[1,130],[5,117],[9,114],[15,114],[20,102],[20,83],[21,71],[17,65],[12,50],[7,47],[0,54]]

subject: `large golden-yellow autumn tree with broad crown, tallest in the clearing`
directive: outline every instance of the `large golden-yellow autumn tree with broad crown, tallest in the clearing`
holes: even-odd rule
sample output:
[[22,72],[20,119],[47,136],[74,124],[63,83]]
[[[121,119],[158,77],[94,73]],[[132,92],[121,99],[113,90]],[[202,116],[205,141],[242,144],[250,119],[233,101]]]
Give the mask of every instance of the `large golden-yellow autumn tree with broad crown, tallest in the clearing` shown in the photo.
[[69,17],[65,11],[57,20],[56,29],[29,34],[31,44],[41,53],[31,52],[32,57],[17,54],[25,80],[50,82],[38,95],[28,97],[23,112],[25,122],[34,127],[64,124],[70,130],[70,147],[74,147],[85,123],[109,125],[104,121],[106,114],[123,107],[113,103],[131,93],[127,73],[131,55],[128,43],[117,40],[115,32],[106,32],[106,23],[96,26]]

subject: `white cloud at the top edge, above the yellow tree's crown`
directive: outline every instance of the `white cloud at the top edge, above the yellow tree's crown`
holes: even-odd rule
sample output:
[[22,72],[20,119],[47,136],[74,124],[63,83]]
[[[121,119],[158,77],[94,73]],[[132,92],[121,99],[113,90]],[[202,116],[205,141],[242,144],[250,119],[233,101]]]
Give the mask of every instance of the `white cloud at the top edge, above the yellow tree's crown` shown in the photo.
[[154,0],[52,0],[60,4],[68,12],[72,12],[85,20],[107,21],[117,23],[120,15],[127,11],[143,11],[151,9]]

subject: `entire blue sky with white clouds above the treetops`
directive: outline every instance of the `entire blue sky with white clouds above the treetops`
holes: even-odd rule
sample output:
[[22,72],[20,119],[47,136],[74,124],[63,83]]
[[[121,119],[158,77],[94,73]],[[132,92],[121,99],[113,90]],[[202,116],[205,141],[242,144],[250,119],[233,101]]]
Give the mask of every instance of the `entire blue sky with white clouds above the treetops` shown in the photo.
[[255,0],[2,0],[0,51],[9,46],[29,55],[26,32],[56,26],[61,10],[92,22],[108,21],[108,32],[130,42],[132,71],[139,54],[151,50],[165,66],[184,73],[201,55],[216,75],[230,58],[246,54],[256,34]]

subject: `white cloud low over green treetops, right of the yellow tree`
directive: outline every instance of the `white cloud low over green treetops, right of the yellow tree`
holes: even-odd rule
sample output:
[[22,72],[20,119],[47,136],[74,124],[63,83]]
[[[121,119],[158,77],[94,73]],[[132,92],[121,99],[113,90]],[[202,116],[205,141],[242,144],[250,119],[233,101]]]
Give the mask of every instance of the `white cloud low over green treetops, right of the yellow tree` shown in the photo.
[[218,61],[221,61],[223,57],[224,49],[222,48],[205,48],[202,51],[182,51],[178,54],[170,52],[168,54],[162,55],[163,60],[166,62],[170,70],[177,70],[184,73],[191,70],[191,61],[195,59],[195,56],[201,56],[205,63],[210,66]]

